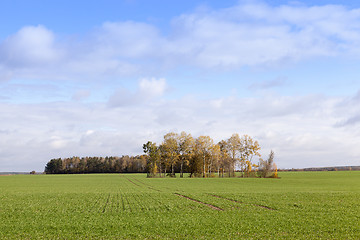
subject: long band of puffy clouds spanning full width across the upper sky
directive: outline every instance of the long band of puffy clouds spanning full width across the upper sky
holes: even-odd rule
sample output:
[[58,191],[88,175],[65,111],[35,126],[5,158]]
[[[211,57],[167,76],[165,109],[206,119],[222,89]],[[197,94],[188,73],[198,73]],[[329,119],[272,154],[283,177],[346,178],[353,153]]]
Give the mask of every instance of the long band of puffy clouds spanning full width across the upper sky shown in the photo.
[[[175,17],[170,34],[142,22],[106,22],[82,38],[26,26],[0,43],[0,77],[98,79],[360,57],[360,9],[239,3]],[[46,67],[44,67],[46,66]]]

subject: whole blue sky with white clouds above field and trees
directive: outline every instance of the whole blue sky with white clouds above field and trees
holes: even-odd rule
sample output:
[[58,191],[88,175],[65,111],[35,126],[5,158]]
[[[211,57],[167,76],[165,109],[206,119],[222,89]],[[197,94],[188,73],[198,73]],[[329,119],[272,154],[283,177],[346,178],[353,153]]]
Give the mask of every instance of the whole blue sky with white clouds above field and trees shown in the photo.
[[0,22],[0,172],[171,131],[360,165],[358,1],[2,0]]

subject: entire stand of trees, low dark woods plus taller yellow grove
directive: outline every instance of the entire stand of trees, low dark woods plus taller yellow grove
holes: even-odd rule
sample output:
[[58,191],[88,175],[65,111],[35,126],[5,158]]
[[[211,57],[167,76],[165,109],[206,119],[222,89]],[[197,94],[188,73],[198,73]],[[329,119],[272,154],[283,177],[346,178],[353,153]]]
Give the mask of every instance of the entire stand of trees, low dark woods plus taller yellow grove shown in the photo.
[[122,157],[70,157],[51,159],[47,174],[147,173],[148,177],[277,177],[274,152],[267,160],[259,153],[258,141],[248,135],[233,134],[214,143],[209,136],[193,138],[186,132],[167,133],[161,144],[143,144],[145,154]]

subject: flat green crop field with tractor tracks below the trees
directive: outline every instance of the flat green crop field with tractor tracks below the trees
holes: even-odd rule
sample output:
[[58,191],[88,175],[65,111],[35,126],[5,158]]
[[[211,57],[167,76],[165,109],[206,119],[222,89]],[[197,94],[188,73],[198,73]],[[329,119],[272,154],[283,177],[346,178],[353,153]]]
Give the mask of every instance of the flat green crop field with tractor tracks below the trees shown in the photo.
[[0,239],[360,239],[360,172],[0,176]]

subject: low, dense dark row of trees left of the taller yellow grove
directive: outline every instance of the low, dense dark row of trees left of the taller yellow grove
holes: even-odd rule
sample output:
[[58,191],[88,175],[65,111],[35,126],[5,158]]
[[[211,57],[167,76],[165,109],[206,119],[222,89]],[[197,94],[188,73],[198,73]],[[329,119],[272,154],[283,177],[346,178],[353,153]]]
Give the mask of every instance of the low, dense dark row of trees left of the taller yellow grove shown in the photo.
[[45,173],[145,173],[146,159],[146,155],[57,158],[46,164]]

